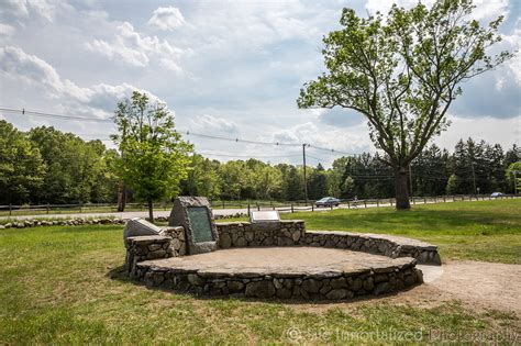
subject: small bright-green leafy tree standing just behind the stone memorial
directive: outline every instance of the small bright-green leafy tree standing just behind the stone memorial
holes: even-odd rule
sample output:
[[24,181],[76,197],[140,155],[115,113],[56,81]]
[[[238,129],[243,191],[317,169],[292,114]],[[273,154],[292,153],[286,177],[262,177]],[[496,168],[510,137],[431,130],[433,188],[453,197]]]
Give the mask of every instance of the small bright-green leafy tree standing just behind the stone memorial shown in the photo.
[[175,131],[166,105],[151,104],[146,93],[134,91],[131,99],[118,103],[114,123],[119,134],[112,139],[121,154],[118,174],[135,198],[148,204],[153,222],[153,202],[174,196],[187,177],[192,146]]

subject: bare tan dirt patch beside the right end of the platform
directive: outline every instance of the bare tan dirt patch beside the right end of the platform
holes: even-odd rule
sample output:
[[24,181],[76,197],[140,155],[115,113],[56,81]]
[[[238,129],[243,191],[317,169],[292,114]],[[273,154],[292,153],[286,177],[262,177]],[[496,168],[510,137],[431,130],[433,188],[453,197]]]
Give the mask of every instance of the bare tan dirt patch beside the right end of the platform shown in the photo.
[[345,303],[297,303],[292,306],[310,312],[381,302],[433,308],[458,300],[473,310],[494,309],[521,317],[521,265],[465,260],[448,261],[441,268],[425,268],[425,283],[396,294]]

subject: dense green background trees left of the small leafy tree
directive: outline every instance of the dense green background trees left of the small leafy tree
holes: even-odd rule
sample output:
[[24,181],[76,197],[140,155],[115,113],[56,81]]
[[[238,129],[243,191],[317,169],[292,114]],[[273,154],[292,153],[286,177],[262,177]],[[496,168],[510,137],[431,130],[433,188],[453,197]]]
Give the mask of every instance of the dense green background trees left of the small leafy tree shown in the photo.
[[114,155],[100,141],[47,126],[23,133],[0,121],[0,203],[110,201]]

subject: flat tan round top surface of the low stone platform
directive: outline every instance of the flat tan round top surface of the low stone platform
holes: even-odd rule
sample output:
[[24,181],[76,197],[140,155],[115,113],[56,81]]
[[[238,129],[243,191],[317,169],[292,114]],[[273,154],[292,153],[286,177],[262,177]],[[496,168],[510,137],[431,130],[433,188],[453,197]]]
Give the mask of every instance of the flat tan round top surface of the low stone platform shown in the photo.
[[220,249],[185,257],[145,260],[140,268],[199,276],[339,277],[362,272],[391,272],[413,267],[411,257],[389,258],[336,248],[247,247]]

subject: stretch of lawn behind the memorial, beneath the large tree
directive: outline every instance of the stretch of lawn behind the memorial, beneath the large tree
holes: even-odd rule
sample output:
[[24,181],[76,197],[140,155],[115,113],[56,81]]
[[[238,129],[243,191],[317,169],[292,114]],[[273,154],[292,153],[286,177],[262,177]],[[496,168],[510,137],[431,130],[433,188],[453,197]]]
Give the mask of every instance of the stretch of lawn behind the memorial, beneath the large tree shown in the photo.
[[282,214],[307,230],[403,235],[439,245],[442,259],[521,264],[521,199]]

